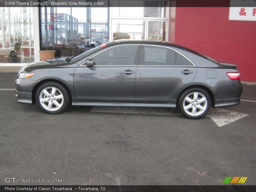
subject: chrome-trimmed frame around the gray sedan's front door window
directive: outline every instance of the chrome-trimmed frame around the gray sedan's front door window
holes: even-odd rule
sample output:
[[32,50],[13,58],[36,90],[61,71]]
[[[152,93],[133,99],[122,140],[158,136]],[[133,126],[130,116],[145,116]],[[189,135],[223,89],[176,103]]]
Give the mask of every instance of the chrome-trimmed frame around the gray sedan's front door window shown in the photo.
[[[115,47],[119,47],[119,46],[131,46],[131,45],[137,45],[138,48],[137,48],[137,52],[136,52],[136,55],[135,55],[135,59],[134,59],[134,64],[135,65],[94,65],[93,67],[137,67],[138,66],[138,63],[139,63],[139,58],[140,58],[140,50],[141,50],[141,44],[121,44],[121,45],[114,45],[114,46],[111,46],[111,47],[108,47],[107,49],[104,49],[94,55],[92,55],[90,58],[88,58],[87,60],[89,59],[93,59],[93,57],[95,57],[96,55],[102,53],[102,52],[105,52],[109,49],[112,49],[112,48],[115,48]],[[85,62],[87,61],[85,60],[82,64],[80,64],[78,67],[87,67],[85,65]]]

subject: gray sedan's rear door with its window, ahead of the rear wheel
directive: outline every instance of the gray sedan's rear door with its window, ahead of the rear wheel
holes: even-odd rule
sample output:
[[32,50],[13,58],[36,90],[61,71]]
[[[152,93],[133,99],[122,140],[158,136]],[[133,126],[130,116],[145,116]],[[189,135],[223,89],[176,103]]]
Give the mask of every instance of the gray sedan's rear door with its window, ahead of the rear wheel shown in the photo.
[[196,66],[173,49],[142,46],[136,77],[136,102],[170,103],[196,73]]

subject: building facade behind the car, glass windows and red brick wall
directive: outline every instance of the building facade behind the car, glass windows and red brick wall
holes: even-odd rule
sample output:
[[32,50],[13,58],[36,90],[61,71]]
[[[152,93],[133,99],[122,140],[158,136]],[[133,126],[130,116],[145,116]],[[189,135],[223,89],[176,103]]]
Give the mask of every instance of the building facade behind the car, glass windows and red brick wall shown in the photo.
[[[170,6],[178,0],[126,7],[118,2],[119,7],[0,7],[0,65],[39,61],[39,50],[68,57],[116,39],[149,39],[235,63],[243,81],[256,82],[253,9],[252,16],[248,10],[250,17],[236,18],[239,7]],[[8,55],[8,49],[17,56]]]

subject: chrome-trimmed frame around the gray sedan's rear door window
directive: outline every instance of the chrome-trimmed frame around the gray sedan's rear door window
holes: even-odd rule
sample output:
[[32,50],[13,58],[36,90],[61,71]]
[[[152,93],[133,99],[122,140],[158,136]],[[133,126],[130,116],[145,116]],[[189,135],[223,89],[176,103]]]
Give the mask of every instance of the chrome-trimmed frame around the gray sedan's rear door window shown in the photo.
[[[167,49],[171,49],[172,51],[177,52],[178,54],[180,54],[181,56],[183,56],[185,59],[187,59],[192,65],[142,65],[142,60],[143,60],[143,56],[144,56],[144,47],[145,46],[154,46],[154,47],[162,47],[162,48],[167,48]],[[162,45],[153,45],[153,44],[141,44],[141,48],[140,48],[140,59],[139,59],[139,67],[196,67],[195,63],[193,61],[191,61],[188,57],[186,57],[184,54],[180,53],[179,51],[168,47],[168,46],[162,46]]]

